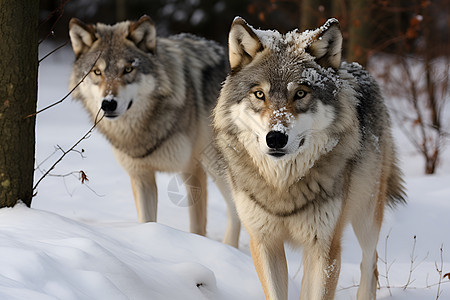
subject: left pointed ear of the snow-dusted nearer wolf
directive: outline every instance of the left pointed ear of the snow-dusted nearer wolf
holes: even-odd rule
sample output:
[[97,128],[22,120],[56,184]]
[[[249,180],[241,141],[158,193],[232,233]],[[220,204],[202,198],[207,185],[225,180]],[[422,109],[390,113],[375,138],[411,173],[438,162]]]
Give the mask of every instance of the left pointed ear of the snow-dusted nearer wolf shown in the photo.
[[228,35],[228,55],[231,71],[249,64],[264,48],[253,29],[242,18],[235,18]]

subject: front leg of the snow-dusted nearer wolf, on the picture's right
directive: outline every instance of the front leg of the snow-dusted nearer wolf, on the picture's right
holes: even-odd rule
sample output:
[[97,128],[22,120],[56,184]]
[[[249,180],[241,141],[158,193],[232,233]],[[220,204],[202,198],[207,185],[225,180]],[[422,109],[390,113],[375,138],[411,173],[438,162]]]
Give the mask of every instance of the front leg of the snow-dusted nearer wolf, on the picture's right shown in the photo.
[[319,245],[305,247],[300,299],[333,299],[340,269],[340,241],[333,241],[332,247],[328,250]]

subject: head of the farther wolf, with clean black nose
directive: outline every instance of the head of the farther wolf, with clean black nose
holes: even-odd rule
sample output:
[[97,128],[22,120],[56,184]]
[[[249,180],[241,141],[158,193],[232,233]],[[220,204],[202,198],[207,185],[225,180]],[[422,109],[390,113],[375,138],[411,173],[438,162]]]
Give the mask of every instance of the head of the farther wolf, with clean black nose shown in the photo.
[[[69,35],[76,61],[71,78],[74,98],[81,98],[91,114],[102,110],[113,119],[131,108],[139,94],[155,89],[150,76],[156,49],[156,30],[148,16],[137,22],[121,22],[114,26],[87,25],[78,19],[69,24]],[[138,84],[143,76],[146,84]]]

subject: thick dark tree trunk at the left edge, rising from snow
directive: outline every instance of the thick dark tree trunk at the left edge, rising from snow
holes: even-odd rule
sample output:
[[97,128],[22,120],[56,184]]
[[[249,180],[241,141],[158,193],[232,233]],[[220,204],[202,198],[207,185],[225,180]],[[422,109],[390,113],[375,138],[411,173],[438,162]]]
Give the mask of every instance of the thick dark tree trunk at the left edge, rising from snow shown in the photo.
[[0,0],[0,207],[31,205],[39,1]]

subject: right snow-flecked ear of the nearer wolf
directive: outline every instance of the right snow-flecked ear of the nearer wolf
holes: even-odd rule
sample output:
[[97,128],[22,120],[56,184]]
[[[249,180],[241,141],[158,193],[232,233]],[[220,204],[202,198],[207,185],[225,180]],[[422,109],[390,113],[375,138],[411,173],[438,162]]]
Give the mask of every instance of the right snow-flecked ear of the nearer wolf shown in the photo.
[[339,21],[329,19],[319,28],[319,34],[306,49],[324,68],[338,69],[341,65],[342,33]]

